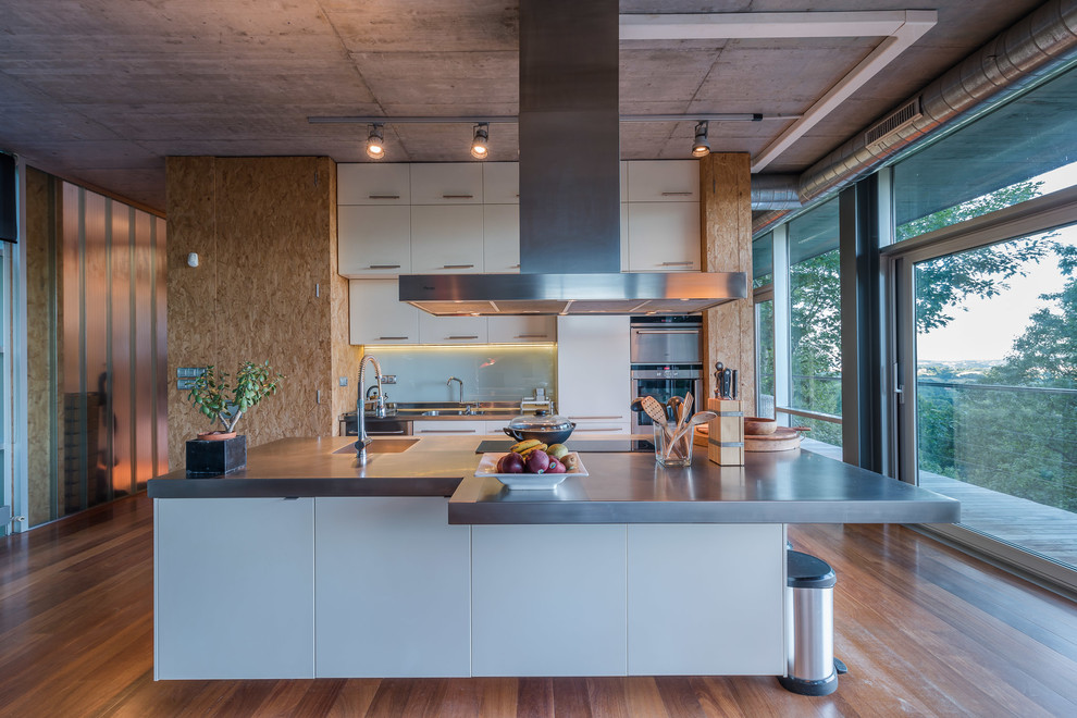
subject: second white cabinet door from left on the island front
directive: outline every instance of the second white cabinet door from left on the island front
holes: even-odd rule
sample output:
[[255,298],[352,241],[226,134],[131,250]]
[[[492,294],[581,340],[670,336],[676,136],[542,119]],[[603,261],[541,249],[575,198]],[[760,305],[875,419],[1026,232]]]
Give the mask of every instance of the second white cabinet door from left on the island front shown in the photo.
[[447,503],[315,499],[318,678],[471,674],[471,528]]

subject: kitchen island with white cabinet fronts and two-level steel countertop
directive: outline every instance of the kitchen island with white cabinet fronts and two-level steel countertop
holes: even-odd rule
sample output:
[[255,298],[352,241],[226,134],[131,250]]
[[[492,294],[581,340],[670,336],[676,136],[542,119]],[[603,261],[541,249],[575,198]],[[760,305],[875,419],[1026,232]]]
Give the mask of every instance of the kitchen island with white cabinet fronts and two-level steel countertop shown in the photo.
[[958,519],[803,450],[663,469],[568,443],[590,475],[550,491],[474,476],[473,436],[152,480],[157,677],[782,674],[785,524]]

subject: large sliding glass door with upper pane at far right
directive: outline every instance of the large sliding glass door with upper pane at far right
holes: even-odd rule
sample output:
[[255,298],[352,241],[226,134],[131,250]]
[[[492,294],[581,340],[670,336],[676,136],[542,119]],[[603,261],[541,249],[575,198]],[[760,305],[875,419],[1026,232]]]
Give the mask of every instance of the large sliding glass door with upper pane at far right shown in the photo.
[[1077,586],[1077,72],[894,165],[902,476]]

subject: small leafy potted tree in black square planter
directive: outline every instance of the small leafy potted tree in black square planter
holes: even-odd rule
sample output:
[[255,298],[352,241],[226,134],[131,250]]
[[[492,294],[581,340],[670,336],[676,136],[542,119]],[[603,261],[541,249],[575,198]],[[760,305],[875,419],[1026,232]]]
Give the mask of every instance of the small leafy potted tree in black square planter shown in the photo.
[[245,361],[233,387],[227,372],[218,375],[213,366],[206,368],[187,398],[211,421],[220,422],[223,431],[205,432],[187,442],[188,475],[215,476],[247,466],[247,437],[236,435],[236,424],[265,396],[276,394],[282,379],[284,375],[274,374],[269,361]]

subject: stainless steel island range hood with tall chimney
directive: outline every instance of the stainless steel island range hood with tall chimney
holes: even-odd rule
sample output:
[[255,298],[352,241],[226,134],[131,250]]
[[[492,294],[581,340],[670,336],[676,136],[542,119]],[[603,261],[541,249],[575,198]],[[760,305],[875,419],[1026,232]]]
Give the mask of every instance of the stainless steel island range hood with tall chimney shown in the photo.
[[520,274],[400,276],[438,315],[701,311],[743,272],[620,272],[617,0],[520,2]]

